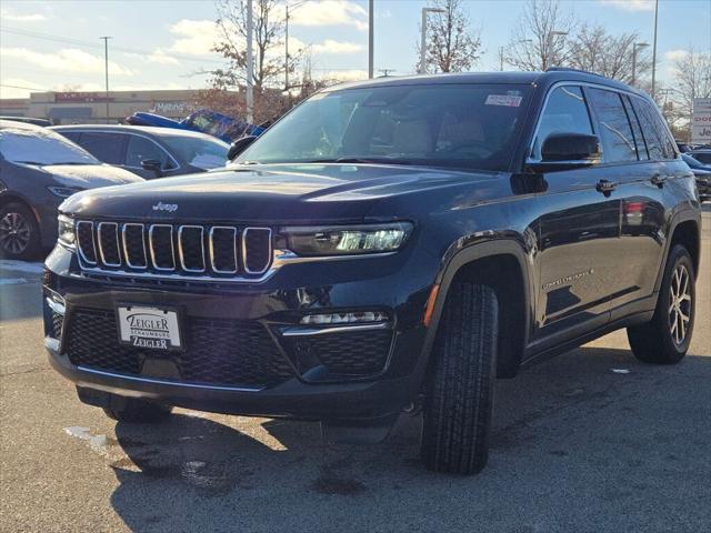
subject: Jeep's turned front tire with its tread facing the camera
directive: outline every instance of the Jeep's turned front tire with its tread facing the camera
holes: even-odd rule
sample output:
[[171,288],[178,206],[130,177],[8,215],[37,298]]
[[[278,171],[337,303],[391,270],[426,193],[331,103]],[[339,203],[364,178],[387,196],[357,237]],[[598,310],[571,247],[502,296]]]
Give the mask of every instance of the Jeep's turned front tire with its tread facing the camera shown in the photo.
[[420,454],[435,472],[475,474],[489,459],[499,306],[490,286],[450,288],[432,351]]

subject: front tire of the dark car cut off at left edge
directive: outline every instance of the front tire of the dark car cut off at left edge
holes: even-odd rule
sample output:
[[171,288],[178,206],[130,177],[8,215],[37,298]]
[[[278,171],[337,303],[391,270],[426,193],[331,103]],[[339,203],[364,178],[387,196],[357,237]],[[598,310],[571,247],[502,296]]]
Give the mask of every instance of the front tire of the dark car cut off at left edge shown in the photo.
[[40,252],[40,227],[34,213],[19,202],[0,208],[0,257],[34,259]]

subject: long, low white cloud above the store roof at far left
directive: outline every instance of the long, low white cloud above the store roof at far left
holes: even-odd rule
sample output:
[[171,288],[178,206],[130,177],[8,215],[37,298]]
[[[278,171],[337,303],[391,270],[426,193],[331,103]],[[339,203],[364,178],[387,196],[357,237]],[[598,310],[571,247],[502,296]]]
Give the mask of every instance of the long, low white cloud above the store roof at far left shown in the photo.
[[[0,57],[12,58],[36,64],[47,70],[61,72],[103,72],[103,56],[93,56],[76,48],[66,48],[57,52],[36,52],[27,48],[0,48]],[[133,72],[114,61],[109,61],[112,76],[131,76]]]

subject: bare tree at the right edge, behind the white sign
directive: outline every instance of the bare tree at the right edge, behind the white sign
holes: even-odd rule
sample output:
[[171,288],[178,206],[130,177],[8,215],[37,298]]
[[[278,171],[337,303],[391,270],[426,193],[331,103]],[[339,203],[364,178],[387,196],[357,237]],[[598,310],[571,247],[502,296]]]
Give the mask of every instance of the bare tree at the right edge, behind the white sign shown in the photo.
[[711,98],[711,53],[699,53],[690,49],[674,61],[675,88],[672,92],[680,119],[689,124],[693,101],[697,98]]

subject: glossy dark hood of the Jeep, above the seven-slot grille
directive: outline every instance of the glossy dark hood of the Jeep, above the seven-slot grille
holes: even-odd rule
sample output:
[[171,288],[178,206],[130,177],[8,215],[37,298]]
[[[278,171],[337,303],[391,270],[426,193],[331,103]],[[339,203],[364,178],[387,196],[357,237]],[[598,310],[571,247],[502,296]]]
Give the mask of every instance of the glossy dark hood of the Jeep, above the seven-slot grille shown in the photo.
[[[378,202],[500,181],[493,172],[375,164],[233,167],[84,191],[62,212],[88,218],[281,222],[360,221]],[[482,191],[491,188],[483,187]],[[448,195],[451,195],[451,191]],[[423,202],[408,202],[411,205]]]

